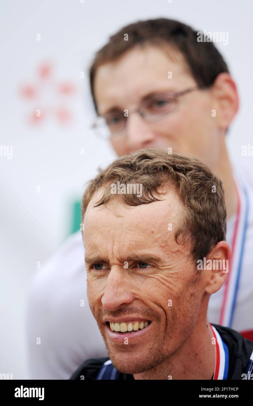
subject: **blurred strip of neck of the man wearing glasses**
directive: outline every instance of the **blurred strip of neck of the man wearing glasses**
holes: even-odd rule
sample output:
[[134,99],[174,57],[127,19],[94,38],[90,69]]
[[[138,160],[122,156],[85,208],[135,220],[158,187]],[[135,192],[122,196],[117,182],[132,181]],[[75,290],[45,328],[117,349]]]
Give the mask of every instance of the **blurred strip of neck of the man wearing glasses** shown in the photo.
[[227,218],[236,213],[238,206],[238,196],[234,181],[233,170],[227,153],[225,143],[221,147],[221,153],[212,172],[221,179],[225,190],[225,202],[227,208]]

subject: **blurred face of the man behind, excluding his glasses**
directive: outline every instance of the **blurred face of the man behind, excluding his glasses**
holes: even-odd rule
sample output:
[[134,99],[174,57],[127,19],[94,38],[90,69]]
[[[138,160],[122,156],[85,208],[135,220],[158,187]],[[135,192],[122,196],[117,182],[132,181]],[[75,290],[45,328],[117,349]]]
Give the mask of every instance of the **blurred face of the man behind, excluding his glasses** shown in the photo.
[[[172,78],[168,78],[168,72]],[[152,93],[178,92],[194,86],[196,82],[178,51],[170,49],[166,54],[148,45],[99,67],[94,91],[98,112],[105,114],[136,108]],[[212,117],[213,109],[217,117]],[[175,110],[157,123],[146,123],[138,114],[129,113],[126,131],[110,138],[110,142],[119,156],[141,148],[172,148],[173,153],[195,155],[212,168],[221,143],[219,111],[212,92],[193,91],[179,97]]]

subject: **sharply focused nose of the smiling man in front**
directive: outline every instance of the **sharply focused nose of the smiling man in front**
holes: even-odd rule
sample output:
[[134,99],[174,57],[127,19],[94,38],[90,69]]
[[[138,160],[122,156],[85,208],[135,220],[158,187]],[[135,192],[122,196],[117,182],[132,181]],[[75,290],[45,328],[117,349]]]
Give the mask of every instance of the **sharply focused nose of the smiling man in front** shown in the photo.
[[134,294],[128,289],[124,272],[127,270],[110,270],[104,295],[101,299],[105,310],[113,311],[124,303],[132,303]]

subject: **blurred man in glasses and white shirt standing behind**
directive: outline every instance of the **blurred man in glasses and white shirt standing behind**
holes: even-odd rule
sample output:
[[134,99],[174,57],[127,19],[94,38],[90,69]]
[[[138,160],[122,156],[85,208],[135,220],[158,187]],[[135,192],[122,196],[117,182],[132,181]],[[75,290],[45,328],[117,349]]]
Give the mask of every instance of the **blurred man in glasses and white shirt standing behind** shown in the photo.
[[[238,94],[214,44],[198,38],[169,19],[137,22],[113,35],[90,70],[94,129],[119,156],[145,147],[195,155],[223,181],[231,266],[210,297],[208,317],[253,340],[252,174],[231,166],[225,145]],[[67,379],[86,358],[107,355],[86,298],[81,231],[37,273],[30,292],[31,378]]]

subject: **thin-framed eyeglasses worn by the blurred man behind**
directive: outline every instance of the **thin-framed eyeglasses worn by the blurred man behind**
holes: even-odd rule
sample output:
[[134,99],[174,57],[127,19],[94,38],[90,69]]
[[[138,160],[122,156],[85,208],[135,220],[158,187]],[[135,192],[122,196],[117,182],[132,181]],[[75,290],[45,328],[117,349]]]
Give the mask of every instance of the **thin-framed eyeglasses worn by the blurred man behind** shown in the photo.
[[138,113],[147,123],[157,123],[166,118],[171,113],[180,96],[190,93],[197,89],[203,89],[206,86],[195,86],[177,93],[163,92],[156,93],[143,100],[139,107],[134,110],[124,110],[110,112],[102,116],[98,116],[92,125],[96,134],[103,138],[116,137],[124,134],[128,114]]

